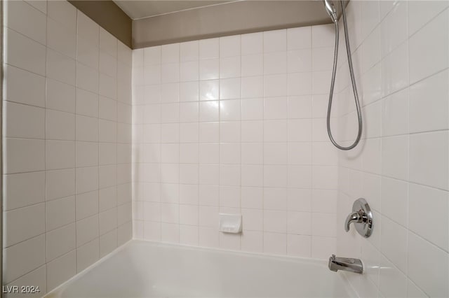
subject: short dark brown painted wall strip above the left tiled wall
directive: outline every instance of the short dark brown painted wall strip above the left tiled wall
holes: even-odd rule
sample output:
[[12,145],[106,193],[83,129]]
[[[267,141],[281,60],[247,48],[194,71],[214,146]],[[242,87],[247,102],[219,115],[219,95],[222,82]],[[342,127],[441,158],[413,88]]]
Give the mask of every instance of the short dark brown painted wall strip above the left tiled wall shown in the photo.
[[111,0],[69,0],[119,41],[132,47],[132,20]]

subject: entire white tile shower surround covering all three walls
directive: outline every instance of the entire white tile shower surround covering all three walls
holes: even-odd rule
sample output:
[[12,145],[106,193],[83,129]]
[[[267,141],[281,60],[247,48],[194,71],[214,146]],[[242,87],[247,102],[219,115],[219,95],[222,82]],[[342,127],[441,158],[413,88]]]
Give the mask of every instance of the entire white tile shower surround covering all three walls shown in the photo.
[[[338,152],[332,25],[130,50],[66,1],[5,1],[6,285],[40,297],[133,236],[336,253],[363,260],[343,273],[361,297],[448,297],[448,6],[349,2],[364,128]],[[332,129],[348,145],[345,55],[340,38]],[[358,197],[369,239],[343,229]],[[243,233],[218,232],[218,213]]]

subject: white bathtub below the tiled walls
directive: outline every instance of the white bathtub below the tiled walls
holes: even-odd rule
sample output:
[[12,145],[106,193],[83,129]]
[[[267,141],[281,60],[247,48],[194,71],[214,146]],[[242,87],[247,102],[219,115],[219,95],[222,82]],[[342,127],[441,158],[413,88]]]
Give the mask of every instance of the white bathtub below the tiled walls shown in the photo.
[[327,262],[133,240],[46,297],[356,297]]

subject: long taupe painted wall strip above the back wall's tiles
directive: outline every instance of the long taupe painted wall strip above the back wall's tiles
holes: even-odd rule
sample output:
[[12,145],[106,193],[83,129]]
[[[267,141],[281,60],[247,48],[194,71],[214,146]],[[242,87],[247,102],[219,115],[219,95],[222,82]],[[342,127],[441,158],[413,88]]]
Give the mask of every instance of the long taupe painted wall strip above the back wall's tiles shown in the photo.
[[133,20],[133,48],[328,23],[321,1],[236,1]]

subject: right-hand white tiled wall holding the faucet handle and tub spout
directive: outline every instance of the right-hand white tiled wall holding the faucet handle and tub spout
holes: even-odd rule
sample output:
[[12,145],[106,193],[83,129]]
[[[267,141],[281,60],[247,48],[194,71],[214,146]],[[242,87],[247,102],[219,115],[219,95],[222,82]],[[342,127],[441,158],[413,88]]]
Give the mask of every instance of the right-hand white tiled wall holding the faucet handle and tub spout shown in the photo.
[[[347,274],[361,297],[449,296],[448,6],[347,7],[365,128],[358,148],[340,153],[337,221],[365,197],[375,227],[369,239],[338,229],[337,252],[368,267],[365,276]],[[340,139],[350,140],[356,121],[344,55]]]

